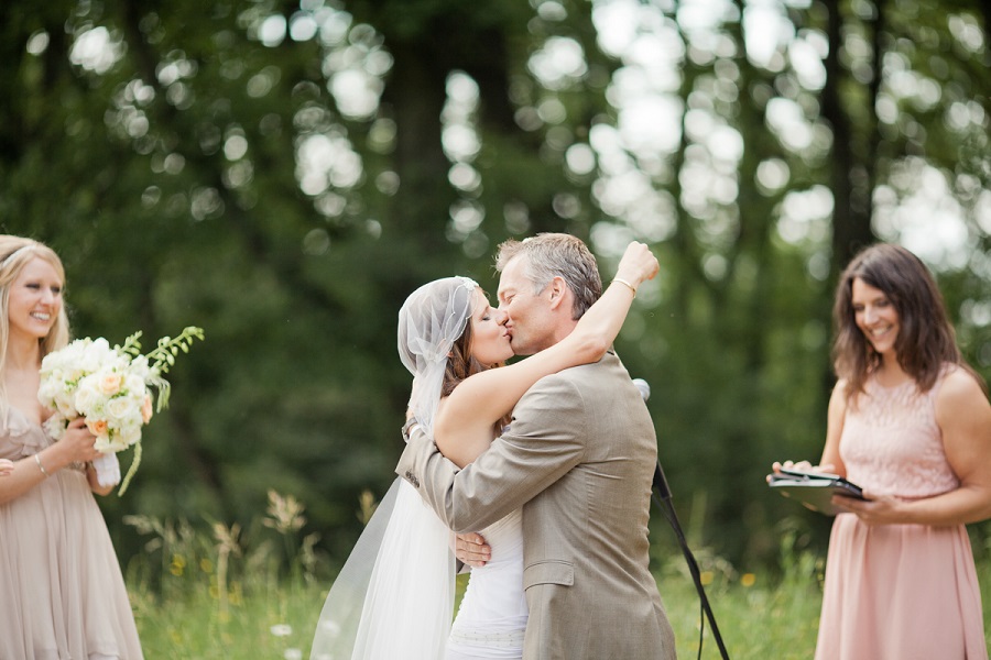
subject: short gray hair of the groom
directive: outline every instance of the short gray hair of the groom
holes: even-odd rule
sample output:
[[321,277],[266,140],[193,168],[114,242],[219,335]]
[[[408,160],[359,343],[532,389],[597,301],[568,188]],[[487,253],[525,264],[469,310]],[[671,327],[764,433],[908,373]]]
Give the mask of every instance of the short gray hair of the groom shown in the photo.
[[496,253],[496,271],[502,273],[518,256],[526,260],[524,273],[533,283],[534,294],[544,290],[555,277],[565,280],[575,295],[571,310],[575,320],[602,295],[599,266],[581,239],[565,233],[540,233],[522,241],[505,241]]

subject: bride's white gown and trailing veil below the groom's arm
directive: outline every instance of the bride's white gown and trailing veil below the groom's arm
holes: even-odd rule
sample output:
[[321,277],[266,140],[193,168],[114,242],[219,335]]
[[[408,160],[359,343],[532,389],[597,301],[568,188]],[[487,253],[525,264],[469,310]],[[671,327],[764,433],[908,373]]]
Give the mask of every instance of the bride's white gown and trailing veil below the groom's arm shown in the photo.
[[472,570],[451,625],[450,532],[420,494],[398,479],[327,595],[311,659],[522,658],[522,515],[514,512],[481,534],[492,547],[492,560]]

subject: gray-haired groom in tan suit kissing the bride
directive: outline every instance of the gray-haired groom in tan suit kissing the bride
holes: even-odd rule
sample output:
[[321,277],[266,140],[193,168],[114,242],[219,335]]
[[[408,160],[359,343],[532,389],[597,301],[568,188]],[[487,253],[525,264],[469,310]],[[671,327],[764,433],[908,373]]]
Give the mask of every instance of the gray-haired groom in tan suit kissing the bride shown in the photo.
[[[595,257],[567,234],[508,241],[496,267],[518,355],[567,337],[602,290]],[[538,381],[462,470],[414,426],[395,471],[455,531],[523,507],[525,660],[669,660],[674,634],[647,568],[656,459],[650,414],[607,353]]]

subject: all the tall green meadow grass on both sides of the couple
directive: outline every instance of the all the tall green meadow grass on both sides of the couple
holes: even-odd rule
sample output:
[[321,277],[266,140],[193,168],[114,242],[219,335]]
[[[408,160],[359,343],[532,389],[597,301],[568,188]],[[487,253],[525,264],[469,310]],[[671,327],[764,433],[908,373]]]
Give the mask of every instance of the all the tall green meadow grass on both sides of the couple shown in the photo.
[[[370,503],[362,505],[371,513]],[[308,659],[316,620],[330,585],[330,566],[315,552],[315,537],[302,535],[303,507],[270,494],[264,516],[240,529],[213,522],[143,517],[128,520],[146,539],[128,564],[127,581],[139,632],[150,660]],[[729,654],[734,660],[812,658],[821,603],[823,559],[795,550],[785,534],[775,574],[744,572],[697,553],[706,594]],[[974,548],[985,603],[991,609],[991,562]],[[678,657],[696,658],[700,604],[680,557],[656,571],[675,629]],[[459,594],[465,576],[459,578]],[[708,620],[703,658],[719,658]],[[420,659],[400,659],[420,660]]]

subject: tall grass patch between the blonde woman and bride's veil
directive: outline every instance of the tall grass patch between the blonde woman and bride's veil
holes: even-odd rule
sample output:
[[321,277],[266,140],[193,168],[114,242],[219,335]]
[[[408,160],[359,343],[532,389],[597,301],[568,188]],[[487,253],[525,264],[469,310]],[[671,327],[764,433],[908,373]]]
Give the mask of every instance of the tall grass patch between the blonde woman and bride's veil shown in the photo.
[[145,538],[127,582],[150,660],[308,658],[328,571],[303,506],[269,493],[248,529],[131,516]]

